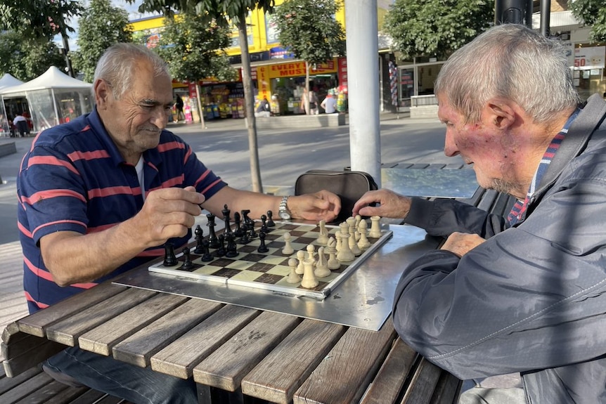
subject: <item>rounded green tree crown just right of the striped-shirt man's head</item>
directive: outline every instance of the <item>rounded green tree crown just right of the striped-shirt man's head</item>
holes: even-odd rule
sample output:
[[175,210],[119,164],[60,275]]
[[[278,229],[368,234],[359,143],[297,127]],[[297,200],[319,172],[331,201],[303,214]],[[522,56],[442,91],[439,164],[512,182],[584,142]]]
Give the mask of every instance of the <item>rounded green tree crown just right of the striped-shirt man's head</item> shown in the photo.
[[155,48],[167,60],[172,77],[197,82],[206,77],[236,78],[224,51],[230,46],[230,32],[208,15],[180,14],[165,18],[160,42]]

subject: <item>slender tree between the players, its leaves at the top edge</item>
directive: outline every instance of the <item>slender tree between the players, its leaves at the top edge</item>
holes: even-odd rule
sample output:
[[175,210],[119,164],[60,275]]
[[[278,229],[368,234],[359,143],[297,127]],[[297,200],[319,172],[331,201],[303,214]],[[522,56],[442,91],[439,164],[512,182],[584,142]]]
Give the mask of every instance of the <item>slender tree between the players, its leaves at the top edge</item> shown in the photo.
[[[133,3],[135,0],[127,0]],[[248,36],[246,34],[246,16],[256,8],[265,13],[273,11],[274,0],[143,0],[139,11],[158,11],[170,13],[171,9],[183,13],[207,13],[219,24],[231,20],[238,27],[240,53],[242,54],[242,82],[248,129],[248,147],[250,149],[250,175],[252,190],[262,192],[261,171],[259,169],[259,148],[257,145],[257,121],[254,119],[254,99],[252,79],[250,77],[250,56],[248,53]]]

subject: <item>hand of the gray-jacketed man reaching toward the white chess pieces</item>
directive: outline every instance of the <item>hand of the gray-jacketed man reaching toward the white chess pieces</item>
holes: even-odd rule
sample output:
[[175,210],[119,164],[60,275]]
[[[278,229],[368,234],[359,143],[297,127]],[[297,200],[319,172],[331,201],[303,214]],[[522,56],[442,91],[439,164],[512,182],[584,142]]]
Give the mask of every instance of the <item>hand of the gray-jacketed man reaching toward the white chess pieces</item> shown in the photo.
[[[377,207],[368,206],[378,202]],[[392,190],[380,189],[368,191],[354,204],[353,216],[381,216],[394,219],[404,219],[411,209],[411,198],[394,193]]]

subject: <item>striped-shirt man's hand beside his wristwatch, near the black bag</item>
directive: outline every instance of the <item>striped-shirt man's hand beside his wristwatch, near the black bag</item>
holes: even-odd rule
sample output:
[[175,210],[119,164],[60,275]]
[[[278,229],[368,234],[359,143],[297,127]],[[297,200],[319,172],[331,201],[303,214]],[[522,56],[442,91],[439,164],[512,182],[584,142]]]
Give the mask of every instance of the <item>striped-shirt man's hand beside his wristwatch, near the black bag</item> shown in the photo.
[[341,199],[327,190],[321,190],[288,198],[288,209],[292,217],[297,219],[330,222],[341,210]]

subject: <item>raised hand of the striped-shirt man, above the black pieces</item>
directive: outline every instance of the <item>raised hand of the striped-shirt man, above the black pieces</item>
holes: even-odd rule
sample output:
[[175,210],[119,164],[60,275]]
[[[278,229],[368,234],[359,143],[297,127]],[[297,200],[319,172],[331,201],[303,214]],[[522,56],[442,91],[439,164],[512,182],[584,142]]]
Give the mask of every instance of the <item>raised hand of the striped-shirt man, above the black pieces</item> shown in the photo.
[[202,211],[202,202],[204,196],[191,186],[153,190],[131,220],[141,237],[148,241],[146,247],[162,245],[169,238],[187,234],[195,223],[195,216]]

